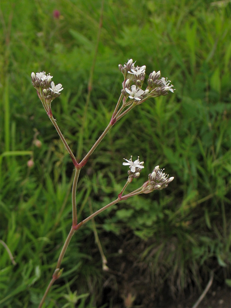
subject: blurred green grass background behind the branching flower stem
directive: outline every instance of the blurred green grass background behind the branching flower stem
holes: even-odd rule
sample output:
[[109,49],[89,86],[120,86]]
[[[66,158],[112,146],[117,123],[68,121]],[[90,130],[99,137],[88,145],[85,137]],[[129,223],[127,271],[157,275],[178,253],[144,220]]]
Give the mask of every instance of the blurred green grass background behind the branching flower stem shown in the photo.
[[[166,287],[169,296],[201,291],[211,272],[218,284],[230,282],[230,2],[106,1],[86,107],[100,7],[99,0],[1,2],[1,239],[17,263],[0,244],[1,307],[38,306],[71,227],[73,164],[31,72],[50,72],[63,84],[52,111],[81,158],[111,119],[123,81],[118,64],[130,58],[147,75],[160,70],[176,91],[134,108],[95,150],[80,173],[79,221],[89,204],[95,211],[116,198],[127,179],[123,158],[139,155],[145,168],[132,188],[156,165],[175,179],[95,218],[109,268],[135,259],[148,269],[155,299]],[[124,234],[144,249],[126,251]],[[62,266],[46,307],[124,307],[120,288],[110,300],[103,295],[110,275],[91,222],[72,238]],[[133,305],[144,306],[142,295]]]

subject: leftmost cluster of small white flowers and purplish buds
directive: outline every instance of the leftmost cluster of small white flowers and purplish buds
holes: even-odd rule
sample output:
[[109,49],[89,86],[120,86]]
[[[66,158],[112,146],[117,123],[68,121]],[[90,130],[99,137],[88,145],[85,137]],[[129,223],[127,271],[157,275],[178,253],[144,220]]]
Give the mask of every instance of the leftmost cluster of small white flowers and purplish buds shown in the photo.
[[56,97],[59,97],[60,91],[63,90],[62,84],[59,83],[55,86],[55,83],[51,81],[52,78],[53,76],[50,73],[47,75],[44,71],[36,74],[31,73],[32,84],[37,90],[39,98],[41,101],[44,99],[48,105]]

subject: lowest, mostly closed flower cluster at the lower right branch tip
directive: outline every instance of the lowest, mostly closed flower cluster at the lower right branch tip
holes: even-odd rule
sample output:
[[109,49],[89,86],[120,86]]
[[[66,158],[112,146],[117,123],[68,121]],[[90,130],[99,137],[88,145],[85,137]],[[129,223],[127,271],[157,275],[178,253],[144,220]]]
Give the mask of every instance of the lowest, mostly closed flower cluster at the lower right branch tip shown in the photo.
[[166,188],[172,182],[174,176],[168,178],[168,174],[165,174],[163,171],[164,169],[159,169],[159,166],[153,169],[152,173],[148,175],[148,181],[143,184],[143,193],[151,193],[153,190]]

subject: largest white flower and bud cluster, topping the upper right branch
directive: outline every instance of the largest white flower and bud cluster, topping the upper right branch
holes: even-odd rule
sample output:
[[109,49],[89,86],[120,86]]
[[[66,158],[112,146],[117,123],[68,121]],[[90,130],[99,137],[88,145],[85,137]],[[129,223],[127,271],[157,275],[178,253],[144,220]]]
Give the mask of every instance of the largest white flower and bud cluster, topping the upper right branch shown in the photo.
[[128,63],[124,64],[124,67],[119,64],[119,69],[124,75],[123,89],[121,90],[121,93],[124,95],[124,106],[129,106],[132,103],[139,105],[150,97],[167,95],[169,91],[174,92],[175,89],[172,89],[173,85],[170,84],[171,80],[163,77],[160,78],[160,71],[157,73],[153,71],[149,75],[148,86],[145,90],[142,90],[146,66],[135,67],[135,63],[130,59]]

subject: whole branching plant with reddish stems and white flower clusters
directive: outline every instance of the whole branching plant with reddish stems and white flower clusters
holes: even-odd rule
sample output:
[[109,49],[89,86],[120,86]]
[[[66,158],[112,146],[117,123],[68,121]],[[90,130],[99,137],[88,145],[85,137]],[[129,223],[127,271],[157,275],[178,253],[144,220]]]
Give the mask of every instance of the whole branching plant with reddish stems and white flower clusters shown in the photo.
[[91,154],[93,153],[95,148],[98,146],[100,141],[107,134],[109,129],[117,121],[119,121],[124,115],[126,115],[132,108],[134,108],[137,105],[140,105],[141,103],[143,103],[144,101],[146,101],[147,99],[151,97],[167,95],[169,91],[174,92],[175,90],[173,89],[173,85],[171,84],[170,80],[167,80],[167,78],[165,79],[163,77],[160,78],[160,71],[158,72],[153,71],[149,75],[148,86],[146,87],[145,90],[142,90],[142,86],[143,86],[144,78],[145,78],[146,66],[145,65],[141,67],[135,66],[135,63],[133,63],[132,59],[128,60],[128,62],[125,63],[124,66],[120,64],[119,69],[121,73],[124,75],[124,81],[122,83],[121,94],[115,106],[115,110],[112,114],[111,121],[109,122],[104,132],[99,137],[99,139],[95,142],[95,144],[92,146],[90,151],[87,153],[87,155],[79,163],[77,162],[74,154],[69,148],[51,111],[51,102],[56,97],[60,96],[60,92],[63,90],[62,84],[59,83],[55,85],[55,83],[51,81],[53,76],[51,76],[50,74],[46,74],[45,71],[36,73],[36,74],[35,73],[31,74],[32,84],[34,88],[37,90],[39,99],[41,100],[43,107],[47,112],[47,115],[49,116],[51,122],[54,124],[60,138],[62,139],[65,147],[67,148],[67,151],[69,152],[72,162],[75,166],[75,177],[74,177],[73,186],[72,186],[72,226],[71,226],[71,230],[60,252],[59,259],[56,265],[56,269],[53,273],[51,282],[49,283],[47,290],[45,291],[43,295],[43,298],[39,304],[39,307],[42,307],[43,302],[51,286],[55,282],[55,280],[61,276],[63,269],[60,269],[60,265],[62,263],[64,254],[71,241],[71,237],[82,225],[84,225],[87,221],[89,221],[90,219],[98,215],[99,213],[103,212],[110,206],[120,201],[124,201],[135,195],[139,195],[142,193],[147,194],[147,193],[153,192],[154,190],[160,190],[160,189],[166,188],[168,184],[174,179],[173,176],[168,178],[168,175],[163,172],[164,169],[159,169],[159,166],[156,166],[153,169],[152,173],[148,175],[148,180],[144,182],[144,184],[141,187],[124,195],[124,191],[127,188],[127,186],[132,182],[134,178],[136,179],[140,176],[140,172],[144,168],[144,161],[140,161],[139,156],[137,160],[135,161],[132,161],[132,156],[129,160],[124,158],[126,162],[123,162],[123,165],[129,166],[128,180],[125,183],[121,192],[118,194],[118,197],[111,203],[107,204],[106,206],[102,207],[95,213],[91,214],[89,217],[87,217],[83,221],[79,223],[77,222],[76,187],[77,187],[77,182],[79,178],[79,173],[80,173],[81,168],[87,163],[88,158],[91,156]]

